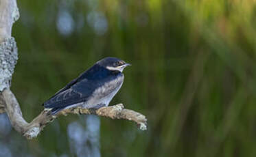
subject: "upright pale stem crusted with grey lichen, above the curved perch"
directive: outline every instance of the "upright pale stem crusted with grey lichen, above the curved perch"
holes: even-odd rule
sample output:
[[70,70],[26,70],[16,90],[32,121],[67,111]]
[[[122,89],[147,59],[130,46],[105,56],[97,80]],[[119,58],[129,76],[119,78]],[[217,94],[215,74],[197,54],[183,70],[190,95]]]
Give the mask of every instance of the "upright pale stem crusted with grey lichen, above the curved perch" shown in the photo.
[[18,59],[16,42],[12,38],[12,24],[18,18],[16,0],[0,0],[0,91],[10,87]]

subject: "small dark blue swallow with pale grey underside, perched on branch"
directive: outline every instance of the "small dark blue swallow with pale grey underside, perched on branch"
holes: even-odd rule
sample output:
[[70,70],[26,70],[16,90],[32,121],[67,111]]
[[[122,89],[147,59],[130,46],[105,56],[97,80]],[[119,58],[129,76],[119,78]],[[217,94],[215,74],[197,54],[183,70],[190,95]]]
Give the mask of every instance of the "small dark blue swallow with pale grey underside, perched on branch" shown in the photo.
[[106,57],[73,79],[43,103],[52,115],[75,106],[100,109],[108,106],[124,82],[123,70],[130,63],[116,57]]

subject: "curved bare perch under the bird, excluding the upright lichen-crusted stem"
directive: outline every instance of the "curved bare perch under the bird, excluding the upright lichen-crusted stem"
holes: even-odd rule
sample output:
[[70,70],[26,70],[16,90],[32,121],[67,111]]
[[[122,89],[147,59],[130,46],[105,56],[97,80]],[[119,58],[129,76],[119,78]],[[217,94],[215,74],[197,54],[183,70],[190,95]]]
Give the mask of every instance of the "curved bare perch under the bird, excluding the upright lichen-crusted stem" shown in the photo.
[[4,89],[0,99],[4,100],[5,111],[8,114],[10,122],[16,131],[23,134],[27,139],[37,137],[40,131],[43,130],[49,122],[52,122],[60,115],[77,114],[77,115],[99,115],[103,117],[109,117],[111,119],[127,119],[137,123],[139,129],[147,129],[147,119],[141,113],[124,109],[123,104],[116,104],[114,106],[106,106],[100,109],[83,109],[81,107],[75,107],[61,111],[56,115],[51,115],[51,111],[44,110],[38,115],[30,124],[23,119],[19,103],[17,102],[14,94],[10,89]]

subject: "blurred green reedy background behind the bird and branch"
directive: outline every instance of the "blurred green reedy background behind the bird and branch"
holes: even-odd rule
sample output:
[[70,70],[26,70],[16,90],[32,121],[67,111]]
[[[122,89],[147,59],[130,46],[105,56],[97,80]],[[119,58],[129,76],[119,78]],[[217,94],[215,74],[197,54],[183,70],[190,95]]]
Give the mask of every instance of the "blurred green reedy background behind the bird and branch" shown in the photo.
[[110,102],[132,122],[68,115],[27,141],[0,115],[0,156],[256,156],[256,5],[243,0],[18,1],[12,90],[31,121],[103,57],[132,66]]

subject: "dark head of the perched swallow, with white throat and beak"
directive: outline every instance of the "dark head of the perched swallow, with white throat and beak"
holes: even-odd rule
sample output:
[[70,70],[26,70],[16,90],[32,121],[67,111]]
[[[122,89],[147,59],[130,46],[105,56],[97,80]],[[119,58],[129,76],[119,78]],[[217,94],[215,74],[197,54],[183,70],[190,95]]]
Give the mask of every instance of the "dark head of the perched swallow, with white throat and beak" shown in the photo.
[[130,63],[126,63],[125,61],[115,58],[115,57],[106,57],[97,61],[97,64],[103,66],[108,70],[123,72],[126,66],[131,66]]

